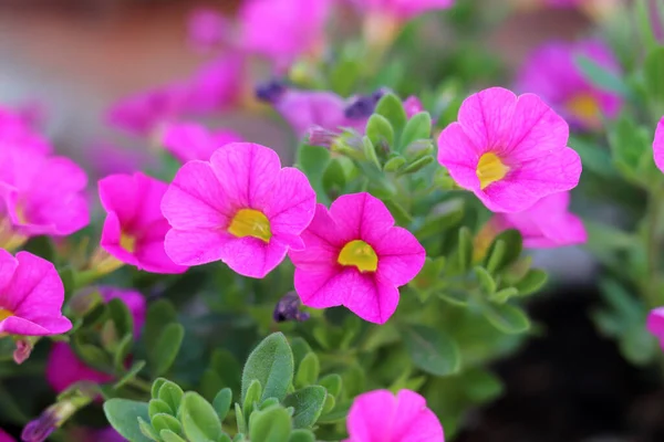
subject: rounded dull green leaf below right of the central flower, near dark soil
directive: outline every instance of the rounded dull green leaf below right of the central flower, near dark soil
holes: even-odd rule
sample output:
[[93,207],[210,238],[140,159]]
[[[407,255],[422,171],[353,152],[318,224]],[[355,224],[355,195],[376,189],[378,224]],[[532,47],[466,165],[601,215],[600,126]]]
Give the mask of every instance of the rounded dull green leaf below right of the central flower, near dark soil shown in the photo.
[[457,344],[435,328],[409,325],[403,328],[403,338],[413,364],[435,376],[459,371],[461,359]]

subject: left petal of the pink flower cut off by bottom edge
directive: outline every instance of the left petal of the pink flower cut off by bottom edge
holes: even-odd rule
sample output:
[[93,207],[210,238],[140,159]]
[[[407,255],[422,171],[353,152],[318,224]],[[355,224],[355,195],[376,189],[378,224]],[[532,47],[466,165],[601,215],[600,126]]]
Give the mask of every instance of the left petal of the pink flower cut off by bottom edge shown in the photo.
[[396,442],[392,439],[396,410],[396,398],[388,390],[374,390],[357,396],[346,421],[351,441]]

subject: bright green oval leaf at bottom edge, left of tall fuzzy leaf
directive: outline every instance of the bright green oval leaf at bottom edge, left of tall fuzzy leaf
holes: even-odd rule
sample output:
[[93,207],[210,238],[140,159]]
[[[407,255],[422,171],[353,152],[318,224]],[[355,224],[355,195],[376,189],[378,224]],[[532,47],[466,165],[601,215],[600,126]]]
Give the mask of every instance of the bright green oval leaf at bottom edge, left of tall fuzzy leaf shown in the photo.
[[187,391],[183,396],[179,414],[185,436],[191,442],[217,441],[221,438],[221,422],[215,409],[197,392]]

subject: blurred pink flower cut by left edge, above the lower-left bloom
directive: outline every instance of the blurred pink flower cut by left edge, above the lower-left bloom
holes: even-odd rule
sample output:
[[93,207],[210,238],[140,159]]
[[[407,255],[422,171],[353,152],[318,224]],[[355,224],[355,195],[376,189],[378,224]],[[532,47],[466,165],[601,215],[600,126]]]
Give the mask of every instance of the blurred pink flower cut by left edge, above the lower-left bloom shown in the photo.
[[34,235],[69,235],[90,222],[87,177],[68,158],[0,149],[0,246]]

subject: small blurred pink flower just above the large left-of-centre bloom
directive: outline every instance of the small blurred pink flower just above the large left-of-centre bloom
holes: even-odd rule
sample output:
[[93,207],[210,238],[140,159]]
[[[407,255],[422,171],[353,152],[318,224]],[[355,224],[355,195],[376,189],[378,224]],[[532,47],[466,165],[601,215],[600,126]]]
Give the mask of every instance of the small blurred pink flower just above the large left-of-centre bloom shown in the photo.
[[181,162],[207,161],[219,147],[241,140],[242,137],[232,130],[210,133],[193,123],[173,124],[164,133],[164,146]]

